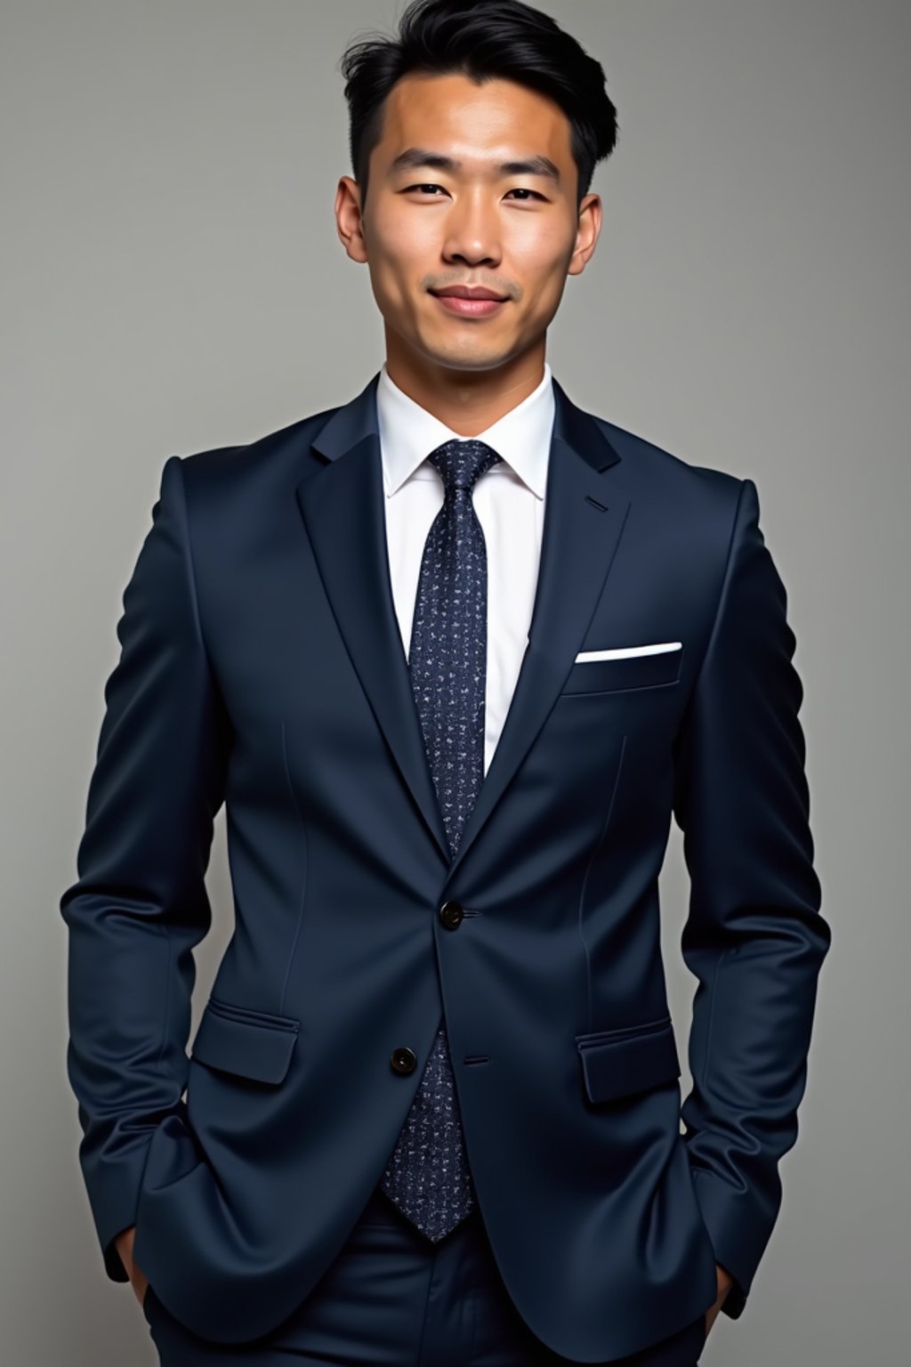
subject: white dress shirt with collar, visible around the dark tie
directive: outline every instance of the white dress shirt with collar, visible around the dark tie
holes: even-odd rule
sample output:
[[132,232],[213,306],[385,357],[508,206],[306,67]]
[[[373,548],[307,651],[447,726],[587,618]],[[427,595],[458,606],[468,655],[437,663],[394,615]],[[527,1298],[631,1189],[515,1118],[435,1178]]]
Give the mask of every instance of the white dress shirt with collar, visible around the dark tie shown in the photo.
[[[501,461],[481,476],[474,510],[488,547],[488,674],[483,772],[503,730],[538,585],[544,502],[555,399],[550,366],[527,398],[474,440],[486,442]],[[385,491],[389,577],[406,659],[421,576],[423,545],[443,507],[444,485],[428,457],[444,442],[466,442],[415,403],[389,377],[385,362],[377,384],[377,421]]]

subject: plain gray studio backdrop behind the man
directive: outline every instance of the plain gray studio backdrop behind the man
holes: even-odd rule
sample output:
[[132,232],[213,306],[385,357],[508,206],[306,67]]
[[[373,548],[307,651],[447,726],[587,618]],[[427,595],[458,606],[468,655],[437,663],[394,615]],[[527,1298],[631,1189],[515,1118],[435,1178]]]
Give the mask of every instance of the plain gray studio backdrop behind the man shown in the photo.
[[[705,1367],[908,1360],[907,0],[545,0],[605,66],[605,227],[548,358],[571,396],[757,481],[806,686],[833,949],[800,1137]],[[335,235],[336,62],[393,0],[3,0],[0,1357],[152,1364],[104,1275],[64,1074],[66,934],[122,592],[172,452],[354,396],[382,360]],[[221,813],[205,999],[231,931]],[[672,1012],[687,882],[662,874]],[[688,1087],[684,1074],[683,1084]],[[904,1158],[901,1156],[904,1154]],[[407,1367],[407,1364],[403,1364]]]

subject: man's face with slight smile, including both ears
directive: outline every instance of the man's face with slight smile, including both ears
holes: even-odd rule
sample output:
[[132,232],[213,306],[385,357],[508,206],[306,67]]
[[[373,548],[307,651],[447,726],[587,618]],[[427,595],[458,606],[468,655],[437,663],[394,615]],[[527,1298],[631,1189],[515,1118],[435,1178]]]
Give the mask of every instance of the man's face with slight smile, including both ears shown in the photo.
[[[410,74],[393,86],[363,213],[355,180],[343,178],[336,197],[340,236],[367,262],[391,351],[490,370],[544,346],[601,223],[594,194],[576,212],[570,139],[560,107],[512,81]],[[518,161],[531,165],[503,168]],[[445,303],[434,291],[449,286],[483,286],[503,302]]]

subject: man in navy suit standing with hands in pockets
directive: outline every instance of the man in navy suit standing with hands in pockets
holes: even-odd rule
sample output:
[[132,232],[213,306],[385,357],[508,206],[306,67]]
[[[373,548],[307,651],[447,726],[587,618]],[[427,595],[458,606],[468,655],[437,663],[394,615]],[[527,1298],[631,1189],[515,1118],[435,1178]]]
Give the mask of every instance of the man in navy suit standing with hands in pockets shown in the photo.
[[[545,361],[601,230],[600,64],[433,0],[344,74],[385,364],[165,462],[61,901],[107,1271],[165,1364],[692,1367],[777,1217],[829,945],[784,588],[751,480]],[[187,1059],[223,801],[236,930]]]

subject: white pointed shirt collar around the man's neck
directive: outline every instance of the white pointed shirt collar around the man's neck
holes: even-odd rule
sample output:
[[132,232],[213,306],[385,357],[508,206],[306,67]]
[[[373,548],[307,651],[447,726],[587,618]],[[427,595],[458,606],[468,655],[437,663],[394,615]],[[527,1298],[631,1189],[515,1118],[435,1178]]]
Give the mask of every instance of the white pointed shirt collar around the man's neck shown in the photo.
[[[545,361],[537,390],[475,439],[492,446],[539,499],[546,487],[555,410],[552,372]],[[400,390],[389,377],[385,361],[377,384],[377,424],[387,498],[392,498],[444,442],[468,440]]]

